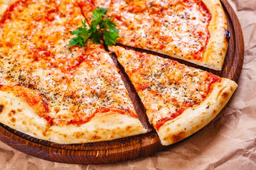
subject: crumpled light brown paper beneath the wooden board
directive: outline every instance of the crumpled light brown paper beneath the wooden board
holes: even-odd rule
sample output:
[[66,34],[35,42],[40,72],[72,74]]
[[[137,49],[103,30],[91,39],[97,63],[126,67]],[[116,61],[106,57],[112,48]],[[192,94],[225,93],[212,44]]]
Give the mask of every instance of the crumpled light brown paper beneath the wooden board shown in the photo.
[[233,98],[205,128],[153,155],[103,165],[48,162],[0,142],[0,169],[256,169],[256,1],[229,2],[242,26],[245,60]]

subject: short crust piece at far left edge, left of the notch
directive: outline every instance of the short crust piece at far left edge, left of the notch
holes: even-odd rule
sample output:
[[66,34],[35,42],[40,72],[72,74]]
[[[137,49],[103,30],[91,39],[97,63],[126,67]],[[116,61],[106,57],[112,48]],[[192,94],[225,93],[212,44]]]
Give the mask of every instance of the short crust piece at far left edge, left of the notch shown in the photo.
[[0,122],[38,139],[46,140],[44,135],[50,127],[48,122],[39,117],[28,103],[11,92],[0,91]]

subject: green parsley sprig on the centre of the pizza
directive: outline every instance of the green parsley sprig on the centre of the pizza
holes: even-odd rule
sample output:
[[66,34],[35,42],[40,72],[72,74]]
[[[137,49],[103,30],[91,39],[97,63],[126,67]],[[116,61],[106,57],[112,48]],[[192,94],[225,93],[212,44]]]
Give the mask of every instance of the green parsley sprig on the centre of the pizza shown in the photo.
[[[85,46],[87,39],[91,39],[93,43],[100,44],[100,40],[104,38],[105,44],[112,46],[119,38],[119,30],[116,25],[107,18],[108,8],[99,8],[92,11],[93,21],[90,23],[90,28],[87,28],[85,20],[82,21],[82,26],[78,30],[74,30],[71,34],[76,35],[70,40],[69,46],[79,44],[80,47]],[[110,17],[112,18],[112,17]]]

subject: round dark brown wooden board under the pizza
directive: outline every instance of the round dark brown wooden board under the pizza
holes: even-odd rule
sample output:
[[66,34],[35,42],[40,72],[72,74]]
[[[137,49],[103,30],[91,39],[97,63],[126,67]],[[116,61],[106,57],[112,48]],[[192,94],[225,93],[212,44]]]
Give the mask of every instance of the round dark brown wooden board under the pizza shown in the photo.
[[[222,71],[217,72],[204,67],[198,67],[196,64],[183,62],[182,60],[177,61],[191,67],[213,72],[213,74],[218,74],[220,77],[226,77],[238,82],[244,57],[242,30],[238,18],[234,13],[233,8],[228,4],[228,1],[222,0],[222,3],[228,20],[228,30],[231,35]],[[156,52],[149,53],[159,55]],[[159,56],[167,57],[166,55]],[[116,62],[117,67],[121,69],[122,78],[127,84],[129,95],[132,98],[137,113],[139,113],[139,119],[142,121],[144,127],[149,130],[147,134],[107,142],[59,145],[53,142],[38,140],[0,123],[0,140],[6,143],[6,145],[33,157],[70,164],[105,164],[121,162],[153,154],[166,148],[161,145],[159,137],[156,135],[156,132],[151,125],[149,125],[145,115],[144,106],[139,101],[137,94],[133,92],[133,86],[130,84],[129,79],[127,79],[127,75],[124,74],[122,67],[117,63],[114,57],[113,60]]]

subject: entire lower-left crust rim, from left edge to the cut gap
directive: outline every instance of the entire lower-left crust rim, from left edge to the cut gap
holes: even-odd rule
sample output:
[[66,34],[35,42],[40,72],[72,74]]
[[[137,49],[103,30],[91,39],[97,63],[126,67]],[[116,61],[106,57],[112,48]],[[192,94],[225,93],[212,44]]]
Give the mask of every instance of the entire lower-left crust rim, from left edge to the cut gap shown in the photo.
[[120,113],[104,113],[83,125],[52,125],[37,115],[28,103],[6,91],[0,91],[0,122],[41,140],[59,144],[115,140],[146,133],[137,118]]

